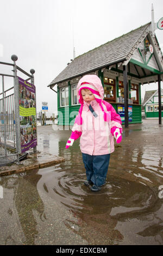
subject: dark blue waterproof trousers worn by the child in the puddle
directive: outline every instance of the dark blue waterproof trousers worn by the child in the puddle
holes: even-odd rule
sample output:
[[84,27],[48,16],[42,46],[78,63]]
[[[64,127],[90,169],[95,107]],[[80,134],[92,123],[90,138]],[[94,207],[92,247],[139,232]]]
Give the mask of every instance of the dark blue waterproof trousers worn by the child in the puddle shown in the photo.
[[92,181],[97,187],[102,186],[106,180],[110,154],[91,156],[82,153],[82,155],[87,181]]

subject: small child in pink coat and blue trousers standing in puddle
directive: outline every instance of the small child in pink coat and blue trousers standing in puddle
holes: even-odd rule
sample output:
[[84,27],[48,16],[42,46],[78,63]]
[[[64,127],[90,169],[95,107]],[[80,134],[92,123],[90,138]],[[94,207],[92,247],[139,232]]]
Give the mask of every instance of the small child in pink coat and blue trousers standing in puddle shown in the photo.
[[114,137],[120,143],[122,122],[110,103],[103,100],[104,89],[96,75],[85,75],[77,86],[79,114],[77,115],[66,148],[80,137],[80,150],[91,191],[99,191],[105,184],[110,153],[114,151]]

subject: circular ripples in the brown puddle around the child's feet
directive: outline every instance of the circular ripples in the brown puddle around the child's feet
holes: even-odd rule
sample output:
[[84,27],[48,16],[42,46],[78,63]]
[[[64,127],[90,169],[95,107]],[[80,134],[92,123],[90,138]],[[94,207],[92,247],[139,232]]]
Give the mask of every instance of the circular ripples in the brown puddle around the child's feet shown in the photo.
[[[55,167],[40,169],[41,189],[66,208],[86,214],[109,211],[112,216],[124,212],[140,212],[152,206],[156,200],[153,188],[143,183],[128,181],[108,175],[99,192],[86,187],[84,170]],[[40,188],[40,187],[39,187]]]

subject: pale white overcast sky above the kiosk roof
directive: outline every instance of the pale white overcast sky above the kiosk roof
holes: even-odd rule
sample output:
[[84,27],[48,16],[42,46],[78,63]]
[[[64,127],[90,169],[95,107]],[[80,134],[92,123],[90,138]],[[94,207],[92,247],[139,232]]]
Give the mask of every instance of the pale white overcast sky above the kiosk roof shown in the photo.
[[[42,101],[54,112],[57,95],[47,86],[73,58],[73,44],[77,57],[145,25],[151,21],[152,3],[158,22],[162,0],[1,0],[0,62],[12,63],[10,57],[16,54],[18,66],[27,72],[35,69],[37,112]],[[155,34],[163,51],[163,30]],[[10,67],[0,65],[2,72],[12,73]],[[5,82],[8,87],[12,84],[7,78]],[[158,84],[143,86],[142,97],[152,89]]]

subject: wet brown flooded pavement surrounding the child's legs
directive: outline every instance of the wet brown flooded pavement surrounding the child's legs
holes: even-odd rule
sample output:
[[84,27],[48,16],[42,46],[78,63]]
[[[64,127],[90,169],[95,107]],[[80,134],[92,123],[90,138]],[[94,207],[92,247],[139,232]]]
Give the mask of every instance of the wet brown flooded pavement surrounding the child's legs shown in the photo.
[[163,125],[143,120],[123,131],[111,154],[106,185],[83,185],[79,141],[65,149],[71,131],[37,127],[54,166],[0,176],[1,245],[162,245]]

